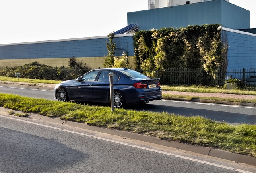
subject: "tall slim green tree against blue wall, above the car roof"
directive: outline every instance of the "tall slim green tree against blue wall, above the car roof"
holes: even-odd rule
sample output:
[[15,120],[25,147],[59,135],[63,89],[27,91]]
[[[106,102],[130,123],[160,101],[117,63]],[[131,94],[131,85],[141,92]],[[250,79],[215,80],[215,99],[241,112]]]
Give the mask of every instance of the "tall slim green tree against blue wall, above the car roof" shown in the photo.
[[105,68],[112,68],[114,65],[115,60],[115,50],[116,50],[116,43],[113,42],[113,39],[115,37],[115,34],[112,32],[109,35],[107,35],[109,38],[109,42],[106,43],[107,45],[107,57],[105,58],[105,63],[103,66]]

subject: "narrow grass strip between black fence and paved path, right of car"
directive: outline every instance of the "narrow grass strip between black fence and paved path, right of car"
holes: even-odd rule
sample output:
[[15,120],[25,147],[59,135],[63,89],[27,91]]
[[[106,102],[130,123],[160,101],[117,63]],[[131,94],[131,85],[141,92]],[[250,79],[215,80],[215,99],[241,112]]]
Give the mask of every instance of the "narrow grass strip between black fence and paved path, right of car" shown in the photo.
[[182,92],[195,92],[195,93],[227,93],[227,94],[242,94],[242,95],[256,95],[256,91],[247,91],[247,90],[227,90],[219,89],[217,87],[204,87],[204,86],[167,86],[161,85],[163,90],[170,91],[182,91]]

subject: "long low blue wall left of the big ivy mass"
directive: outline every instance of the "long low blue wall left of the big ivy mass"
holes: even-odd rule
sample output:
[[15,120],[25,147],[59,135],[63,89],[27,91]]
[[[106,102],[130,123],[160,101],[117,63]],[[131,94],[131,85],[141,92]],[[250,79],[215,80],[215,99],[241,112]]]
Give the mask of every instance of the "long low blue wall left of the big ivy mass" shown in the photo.
[[[79,40],[56,40],[51,42],[34,42],[24,44],[0,45],[0,59],[33,59],[33,58],[69,58],[75,57],[103,57],[107,55],[106,41],[109,39],[80,38]],[[132,34],[116,36],[116,56],[122,56],[122,51],[134,55]]]

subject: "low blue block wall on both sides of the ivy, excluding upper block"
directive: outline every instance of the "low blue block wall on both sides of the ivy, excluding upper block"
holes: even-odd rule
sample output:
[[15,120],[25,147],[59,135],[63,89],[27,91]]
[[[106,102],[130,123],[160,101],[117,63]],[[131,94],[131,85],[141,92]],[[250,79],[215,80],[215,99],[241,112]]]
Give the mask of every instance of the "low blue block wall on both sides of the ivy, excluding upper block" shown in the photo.
[[[240,31],[222,31],[229,43],[228,69],[256,68],[256,35],[236,32]],[[81,40],[0,45],[0,59],[103,57],[107,55],[107,40],[107,37],[81,38]],[[131,34],[116,36],[114,42],[118,47],[116,56],[121,56],[121,50],[128,50],[130,56],[134,55]]]

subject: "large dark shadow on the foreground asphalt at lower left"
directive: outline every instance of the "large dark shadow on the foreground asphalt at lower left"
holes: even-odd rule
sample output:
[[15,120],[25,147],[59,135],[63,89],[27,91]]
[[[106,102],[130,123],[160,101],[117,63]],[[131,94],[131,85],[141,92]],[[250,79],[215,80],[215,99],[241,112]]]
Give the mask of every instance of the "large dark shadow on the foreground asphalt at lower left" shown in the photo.
[[0,172],[2,173],[39,173],[54,172],[54,170],[65,172],[66,167],[72,167],[90,157],[55,139],[3,127],[0,127],[0,131]]

